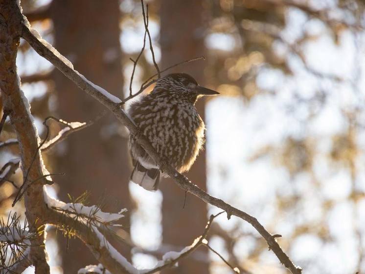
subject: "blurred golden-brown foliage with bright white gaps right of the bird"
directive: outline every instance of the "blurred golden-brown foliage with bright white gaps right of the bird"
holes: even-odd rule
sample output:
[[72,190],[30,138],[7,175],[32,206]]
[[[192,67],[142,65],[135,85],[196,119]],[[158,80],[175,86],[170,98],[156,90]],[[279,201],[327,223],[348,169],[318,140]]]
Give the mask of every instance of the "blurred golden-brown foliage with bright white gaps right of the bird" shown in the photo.
[[[247,110],[242,113],[250,118],[235,119],[244,122],[234,125],[243,127],[238,132],[251,136],[247,138],[251,142],[236,139],[233,147],[250,148],[241,153],[245,155],[242,169],[245,165],[261,167],[261,173],[268,173],[264,183],[270,190],[266,190],[267,196],[258,195],[256,202],[236,201],[240,188],[255,189],[260,180],[237,175],[250,174],[239,172],[239,164],[229,168],[239,158],[229,163],[214,160],[212,170],[220,168],[214,181],[240,178],[224,186],[237,188],[225,198],[246,206],[249,212],[263,214],[270,231],[285,231],[278,241],[290,250],[304,273],[364,272],[364,226],[359,221],[365,216],[364,2],[209,3],[208,82],[228,96],[244,99],[242,105]],[[224,121],[217,120],[217,124]],[[253,129],[245,128],[247,125]],[[217,174],[214,171],[211,176]],[[275,178],[278,174],[279,180],[284,180],[280,184]],[[247,256],[241,262],[246,269],[265,273],[252,266],[265,264],[269,255],[265,245],[252,242],[252,236],[247,235],[251,230],[237,226],[229,225],[226,234],[226,243],[236,247],[231,258],[236,255],[235,260],[240,260],[239,250],[245,250]],[[227,235],[233,236],[227,239]],[[319,250],[321,255],[317,256]],[[346,252],[352,259],[345,258]],[[333,260],[338,262],[331,265]]]

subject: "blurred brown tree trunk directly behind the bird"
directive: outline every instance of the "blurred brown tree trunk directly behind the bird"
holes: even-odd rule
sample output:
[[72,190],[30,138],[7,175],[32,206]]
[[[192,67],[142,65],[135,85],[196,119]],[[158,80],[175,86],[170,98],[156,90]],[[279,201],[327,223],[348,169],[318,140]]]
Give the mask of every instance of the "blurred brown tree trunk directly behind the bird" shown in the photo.
[[[161,68],[192,59],[205,54],[204,46],[203,0],[161,0],[160,6],[160,45]],[[192,75],[199,83],[204,83],[203,61],[179,66],[175,72]],[[204,120],[204,100],[197,104],[198,112]],[[201,151],[197,161],[187,174],[199,187],[206,189],[205,151]],[[184,191],[171,179],[161,184],[162,236],[163,242],[175,247],[190,245],[192,239],[200,235],[207,221],[206,204],[194,196],[188,195],[183,208]],[[179,268],[162,271],[164,274],[207,274],[209,264],[204,262],[207,252],[204,248],[203,261],[188,259],[179,262]],[[200,257],[200,256],[199,256]],[[200,257],[201,258],[201,257]]]

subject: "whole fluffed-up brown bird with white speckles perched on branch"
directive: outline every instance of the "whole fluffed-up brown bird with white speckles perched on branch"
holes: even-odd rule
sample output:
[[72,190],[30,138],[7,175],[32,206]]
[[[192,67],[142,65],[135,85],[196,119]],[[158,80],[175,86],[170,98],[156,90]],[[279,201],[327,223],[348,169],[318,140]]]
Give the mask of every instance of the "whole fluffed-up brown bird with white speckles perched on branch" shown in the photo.
[[[173,73],[160,77],[152,92],[132,102],[127,112],[161,159],[183,173],[190,169],[205,142],[205,124],[195,103],[203,96],[218,94],[186,73]],[[159,166],[133,136],[129,149],[134,165],[130,181],[157,191]]]

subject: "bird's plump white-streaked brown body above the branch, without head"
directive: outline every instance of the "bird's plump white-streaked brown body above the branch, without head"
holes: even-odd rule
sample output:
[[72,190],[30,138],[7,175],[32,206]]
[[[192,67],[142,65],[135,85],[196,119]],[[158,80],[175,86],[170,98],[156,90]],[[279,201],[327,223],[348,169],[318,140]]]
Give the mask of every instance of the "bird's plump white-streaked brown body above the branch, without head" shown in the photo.
[[134,120],[151,145],[180,172],[187,171],[204,143],[205,125],[194,105],[160,98],[140,113]]

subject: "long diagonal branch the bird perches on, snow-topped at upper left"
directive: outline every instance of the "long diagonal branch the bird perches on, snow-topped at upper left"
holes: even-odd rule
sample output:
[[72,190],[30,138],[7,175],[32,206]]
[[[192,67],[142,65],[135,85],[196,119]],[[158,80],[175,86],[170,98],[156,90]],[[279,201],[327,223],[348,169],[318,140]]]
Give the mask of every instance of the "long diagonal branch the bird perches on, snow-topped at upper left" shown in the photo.
[[[288,268],[293,274],[300,274],[301,268],[293,264],[288,255],[281,249],[276,242],[275,237],[270,234],[265,227],[258,222],[258,220],[251,215],[243,212],[230,204],[224,202],[221,199],[210,196],[205,191],[200,189],[197,185],[193,184],[188,178],[178,173],[166,159],[162,159],[156,150],[149,143],[148,139],[140,134],[137,126],[128,117],[125,111],[121,108],[121,100],[115,99],[113,95],[105,91],[104,89],[94,85],[91,81],[86,79],[83,75],[80,75],[75,71],[68,62],[65,62],[65,58],[60,58],[60,53],[52,46],[45,45],[44,40],[40,38],[39,34],[34,35],[34,30],[29,25],[23,24],[22,37],[29,43],[29,45],[36,50],[41,56],[45,57],[50,63],[52,63],[58,70],[72,80],[80,89],[92,96],[95,100],[105,105],[118,119],[120,123],[125,125],[132,136],[134,136],[136,142],[143,147],[143,149],[151,156],[151,158],[158,164],[164,173],[168,174],[183,190],[190,192],[199,199],[202,199],[206,203],[217,206],[227,212],[228,219],[231,215],[237,216],[242,220],[250,223],[266,240],[269,248],[273,250],[280,262]],[[42,40],[40,40],[42,39]]]

